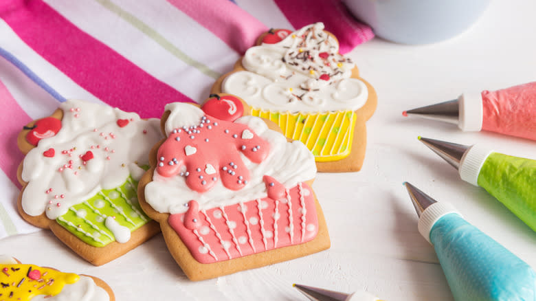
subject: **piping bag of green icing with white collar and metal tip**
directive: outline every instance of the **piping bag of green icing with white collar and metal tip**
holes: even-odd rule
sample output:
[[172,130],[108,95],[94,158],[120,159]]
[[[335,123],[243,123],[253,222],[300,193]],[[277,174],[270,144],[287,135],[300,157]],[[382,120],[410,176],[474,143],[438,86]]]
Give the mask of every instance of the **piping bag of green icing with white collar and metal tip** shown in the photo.
[[487,190],[536,231],[536,160],[495,153],[478,144],[418,139],[454,166],[462,180]]

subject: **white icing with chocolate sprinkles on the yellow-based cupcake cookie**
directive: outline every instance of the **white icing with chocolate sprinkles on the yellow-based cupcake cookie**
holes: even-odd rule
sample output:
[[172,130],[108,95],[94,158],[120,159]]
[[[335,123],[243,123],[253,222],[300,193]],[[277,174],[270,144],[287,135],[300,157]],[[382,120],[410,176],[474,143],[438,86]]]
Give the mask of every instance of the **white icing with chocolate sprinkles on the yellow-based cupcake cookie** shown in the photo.
[[[242,59],[247,71],[227,76],[223,92],[240,96],[254,108],[275,111],[359,109],[368,98],[368,89],[350,77],[355,64],[338,53],[337,41],[323,30],[324,24],[315,23],[279,43],[249,48]],[[323,74],[329,80],[323,80]]]

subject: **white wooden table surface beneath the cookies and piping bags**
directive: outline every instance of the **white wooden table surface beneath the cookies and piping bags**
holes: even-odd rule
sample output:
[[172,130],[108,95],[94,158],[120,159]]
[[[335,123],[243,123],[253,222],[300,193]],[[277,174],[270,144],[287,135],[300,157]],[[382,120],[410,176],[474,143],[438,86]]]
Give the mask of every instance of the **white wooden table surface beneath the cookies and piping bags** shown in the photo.
[[[286,263],[190,282],[161,235],[102,267],[81,260],[50,232],[0,241],[0,253],[23,262],[106,280],[117,300],[305,300],[297,282],[339,291],[366,289],[385,300],[451,300],[434,249],[417,232],[403,181],[439,201],[536,267],[536,233],[481,188],[418,142],[417,136],[486,144],[536,158],[536,142],[455,126],[401,112],[458,97],[468,89],[501,89],[536,80],[536,2],[493,1],[467,32],[433,45],[397,45],[379,38],[350,57],[375,86],[379,104],[368,122],[363,169],[319,174],[313,185],[331,234],[331,249]],[[455,17],[455,16],[453,16]]]

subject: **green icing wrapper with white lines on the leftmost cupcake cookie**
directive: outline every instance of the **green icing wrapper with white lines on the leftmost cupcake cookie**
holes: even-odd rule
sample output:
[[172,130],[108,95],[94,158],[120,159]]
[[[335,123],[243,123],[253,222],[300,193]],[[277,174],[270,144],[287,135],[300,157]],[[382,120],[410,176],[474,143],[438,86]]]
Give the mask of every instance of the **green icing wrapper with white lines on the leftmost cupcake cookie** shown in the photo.
[[101,190],[82,203],[71,206],[66,214],[56,221],[69,232],[93,247],[104,247],[115,241],[113,233],[106,227],[107,216],[131,232],[150,221],[137,201],[137,181],[132,177],[115,189]]

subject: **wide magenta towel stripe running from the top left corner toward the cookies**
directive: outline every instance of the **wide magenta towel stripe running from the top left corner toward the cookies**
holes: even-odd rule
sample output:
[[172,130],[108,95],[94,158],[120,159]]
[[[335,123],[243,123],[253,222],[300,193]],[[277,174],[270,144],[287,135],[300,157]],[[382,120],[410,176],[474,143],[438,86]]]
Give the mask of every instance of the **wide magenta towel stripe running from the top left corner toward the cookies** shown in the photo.
[[112,107],[159,118],[164,104],[192,101],[82,32],[42,0],[3,1],[0,17],[35,52]]

